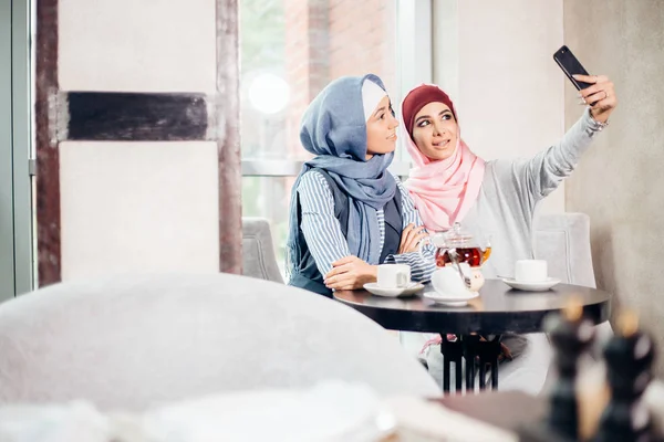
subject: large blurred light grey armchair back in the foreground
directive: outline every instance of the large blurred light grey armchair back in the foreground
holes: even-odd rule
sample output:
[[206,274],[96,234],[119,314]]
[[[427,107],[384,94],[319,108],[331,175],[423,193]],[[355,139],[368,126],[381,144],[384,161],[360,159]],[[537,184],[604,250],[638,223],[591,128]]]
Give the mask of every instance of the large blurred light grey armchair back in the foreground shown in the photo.
[[52,285],[0,304],[0,404],[82,398],[102,410],[340,379],[439,393],[373,320],[324,296],[237,276]]

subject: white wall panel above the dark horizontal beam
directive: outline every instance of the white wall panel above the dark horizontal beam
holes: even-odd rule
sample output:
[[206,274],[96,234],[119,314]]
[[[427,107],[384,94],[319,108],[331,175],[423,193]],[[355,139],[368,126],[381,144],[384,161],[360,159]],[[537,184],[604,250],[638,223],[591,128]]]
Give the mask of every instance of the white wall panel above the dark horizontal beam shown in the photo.
[[216,91],[214,0],[60,0],[63,91]]

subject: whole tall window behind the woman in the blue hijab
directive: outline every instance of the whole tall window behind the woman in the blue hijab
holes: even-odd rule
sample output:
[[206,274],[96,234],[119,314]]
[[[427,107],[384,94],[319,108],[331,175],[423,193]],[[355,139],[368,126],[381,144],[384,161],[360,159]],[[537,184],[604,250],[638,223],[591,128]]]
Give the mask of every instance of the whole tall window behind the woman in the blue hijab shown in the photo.
[[[404,43],[397,48],[397,28],[407,32],[404,23],[411,23],[411,33],[415,34],[413,11],[418,8],[412,3],[239,2],[242,209],[245,217],[271,221],[277,261],[282,269],[291,187],[301,162],[309,158],[299,141],[302,113],[330,81],[365,73],[384,81],[397,106],[404,77],[398,69]],[[429,2],[422,3],[430,8]],[[430,22],[430,14],[424,21]],[[428,39],[426,46],[430,48]],[[430,59],[427,51],[421,54],[424,59]],[[430,72],[421,81],[429,77]],[[397,152],[398,160],[393,165],[400,175],[407,171],[403,155]]]

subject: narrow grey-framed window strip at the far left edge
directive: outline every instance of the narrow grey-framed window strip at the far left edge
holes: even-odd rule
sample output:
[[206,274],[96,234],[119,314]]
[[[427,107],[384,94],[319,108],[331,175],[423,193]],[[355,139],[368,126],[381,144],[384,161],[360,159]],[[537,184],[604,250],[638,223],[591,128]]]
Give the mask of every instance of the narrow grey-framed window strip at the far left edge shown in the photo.
[[0,302],[33,283],[31,178],[31,2],[0,2]]

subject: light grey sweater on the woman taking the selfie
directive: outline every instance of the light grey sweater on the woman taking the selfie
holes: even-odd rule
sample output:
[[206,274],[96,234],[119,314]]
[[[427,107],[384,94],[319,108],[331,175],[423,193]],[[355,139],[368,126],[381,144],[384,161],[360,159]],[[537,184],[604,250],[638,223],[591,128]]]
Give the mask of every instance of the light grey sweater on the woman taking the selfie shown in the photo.
[[538,202],[571,175],[599,129],[587,109],[557,145],[535,157],[487,161],[477,200],[461,220],[469,232],[491,235],[491,256],[483,266],[485,277],[513,276],[515,262],[533,256],[532,221]]

